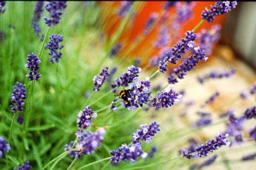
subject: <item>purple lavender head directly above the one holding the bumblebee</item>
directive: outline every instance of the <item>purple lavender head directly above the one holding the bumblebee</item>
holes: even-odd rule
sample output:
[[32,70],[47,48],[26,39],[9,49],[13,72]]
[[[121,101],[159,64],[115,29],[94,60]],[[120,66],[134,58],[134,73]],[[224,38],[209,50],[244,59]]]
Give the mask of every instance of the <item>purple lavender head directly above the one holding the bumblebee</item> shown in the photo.
[[111,84],[112,89],[120,86],[127,87],[129,83],[137,80],[140,71],[140,67],[129,66],[127,73],[122,73],[120,78],[115,78],[115,83]]

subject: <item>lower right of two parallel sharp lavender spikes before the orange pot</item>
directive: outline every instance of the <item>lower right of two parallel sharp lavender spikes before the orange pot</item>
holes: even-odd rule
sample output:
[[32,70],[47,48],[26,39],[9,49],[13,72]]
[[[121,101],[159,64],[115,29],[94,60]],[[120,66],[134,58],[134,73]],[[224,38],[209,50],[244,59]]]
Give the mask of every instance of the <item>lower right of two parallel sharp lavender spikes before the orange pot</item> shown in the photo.
[[187,57],[186,59],[183,60],[183,63],[179,65],[179,67],[174,68],[169,76],[168,76],[168,82],[171,84],[177,83],[179,79],[184,78],[184,76],[186,75],[186,73],[188,71],[191,71],[200,60],[207,60],[208,58],[205,57],[204,52],[202,52],[202,50],[200,50],[199,46],[193,48],[194,52],[193,55],[191,55],[190,57]]

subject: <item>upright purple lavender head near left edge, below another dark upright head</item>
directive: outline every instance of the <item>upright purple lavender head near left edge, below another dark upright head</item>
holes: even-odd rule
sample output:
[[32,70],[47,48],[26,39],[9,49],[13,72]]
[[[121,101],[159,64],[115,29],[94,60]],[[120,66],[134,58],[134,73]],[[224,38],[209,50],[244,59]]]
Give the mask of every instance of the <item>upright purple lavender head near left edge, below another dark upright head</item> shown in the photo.
[[10,106],[13,113],[23,110],[23,106],[25,105],[24,99],[26,99],[25,85],[17,82],[17,84],[13,87],[13,92],[12,92],[11,102],[13,103],[14,106],[13,105]]

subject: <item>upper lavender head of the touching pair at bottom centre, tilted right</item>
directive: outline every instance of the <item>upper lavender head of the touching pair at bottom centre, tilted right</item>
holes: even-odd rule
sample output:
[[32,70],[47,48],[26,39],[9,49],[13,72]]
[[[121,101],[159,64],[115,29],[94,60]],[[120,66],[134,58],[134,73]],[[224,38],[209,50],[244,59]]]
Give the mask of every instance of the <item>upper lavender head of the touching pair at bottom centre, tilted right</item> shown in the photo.
[[159,124],[157,122],[152,122],[152,124],[142,124],[141,129],[138,129],[134,134],[132,134],[133,143],[138,143],[140,140],[150,143],[153,136],[160,131]]

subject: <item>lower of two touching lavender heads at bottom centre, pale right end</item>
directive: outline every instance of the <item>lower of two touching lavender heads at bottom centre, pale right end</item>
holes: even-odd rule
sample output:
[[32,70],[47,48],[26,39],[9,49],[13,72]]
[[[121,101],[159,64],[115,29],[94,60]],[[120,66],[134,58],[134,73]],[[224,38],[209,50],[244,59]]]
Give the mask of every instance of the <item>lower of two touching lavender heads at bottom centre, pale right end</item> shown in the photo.
[[141,150],[141,143],[132,143],[131,145],[123,144],[117,150],[110,152],[112,164],[118,164],[121,160],[127,162],[127,160],[132,163],[135,162],[138,157],[145,159],[147,153]]

